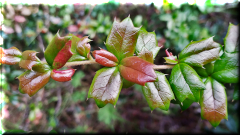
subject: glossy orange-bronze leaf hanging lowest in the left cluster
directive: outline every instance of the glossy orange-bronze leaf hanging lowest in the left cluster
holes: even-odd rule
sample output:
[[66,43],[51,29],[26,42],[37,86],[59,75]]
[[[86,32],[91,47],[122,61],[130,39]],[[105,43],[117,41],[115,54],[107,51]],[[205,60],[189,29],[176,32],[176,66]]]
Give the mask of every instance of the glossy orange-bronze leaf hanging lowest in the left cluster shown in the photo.
[[30,97],[44,87],[50,80],[50,71],[40,73],[28,70],[21,74],[19,79],[19,91],[27,93]]

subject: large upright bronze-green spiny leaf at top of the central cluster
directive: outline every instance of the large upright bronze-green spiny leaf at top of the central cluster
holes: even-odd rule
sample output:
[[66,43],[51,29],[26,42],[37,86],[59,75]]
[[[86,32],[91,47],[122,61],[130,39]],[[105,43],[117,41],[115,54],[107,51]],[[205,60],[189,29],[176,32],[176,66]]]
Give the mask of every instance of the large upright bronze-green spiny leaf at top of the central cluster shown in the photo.
[[119,61],[125,57],[132,56],[140,28],[133,26],[130,17],[122,22],[117,22],[116,18],[107,37],[107,50],[113,53]]

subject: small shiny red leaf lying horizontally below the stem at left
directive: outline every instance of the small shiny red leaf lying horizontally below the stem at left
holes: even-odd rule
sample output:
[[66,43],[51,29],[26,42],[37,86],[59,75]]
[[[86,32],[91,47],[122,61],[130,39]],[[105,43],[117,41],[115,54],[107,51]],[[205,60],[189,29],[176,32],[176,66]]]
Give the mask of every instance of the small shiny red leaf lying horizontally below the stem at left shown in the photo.
[[71,77],[73,76],[74,73],[75,69],[67,69],[61,71],[53,69],[51,72],[51,77],[55,81],[66,82],[71,80]]

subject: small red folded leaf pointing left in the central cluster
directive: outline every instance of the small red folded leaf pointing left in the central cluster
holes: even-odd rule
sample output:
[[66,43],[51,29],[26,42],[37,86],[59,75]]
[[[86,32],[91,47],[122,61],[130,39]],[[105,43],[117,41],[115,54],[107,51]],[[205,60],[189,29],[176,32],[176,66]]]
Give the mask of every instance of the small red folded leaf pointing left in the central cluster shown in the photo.
[[106,67],[114,67],[118,62],[118,59],[114,54],[104,49],[93,51],[93,56],[97,63]]

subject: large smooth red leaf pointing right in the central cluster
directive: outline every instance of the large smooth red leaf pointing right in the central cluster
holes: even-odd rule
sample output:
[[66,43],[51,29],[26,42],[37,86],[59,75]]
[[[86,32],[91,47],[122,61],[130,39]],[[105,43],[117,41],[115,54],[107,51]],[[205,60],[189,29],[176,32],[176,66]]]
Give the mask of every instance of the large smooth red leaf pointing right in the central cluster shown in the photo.
[[153,64],[137,56],[124,58],[119,65],[119,71],[126,80],[142,86],[146,82],[155,81],[157,78]]

